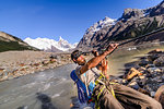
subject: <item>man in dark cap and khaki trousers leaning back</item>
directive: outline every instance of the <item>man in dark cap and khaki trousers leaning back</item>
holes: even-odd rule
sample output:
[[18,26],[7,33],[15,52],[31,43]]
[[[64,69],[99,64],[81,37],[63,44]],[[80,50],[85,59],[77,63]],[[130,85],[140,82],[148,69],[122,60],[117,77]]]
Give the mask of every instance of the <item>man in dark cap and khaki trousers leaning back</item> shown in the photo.
[[[99,78],[101,72],[96,65],[105,59],[117,44],[110,44],[104,53],[85,61],[81,51],[75,50],[71,53],[71,59],[79,66],[75,74],[84,83],[86,90],[92,90],[92,98],[96,102],[96,108],[101,109],[162,109],[161,104],[153,98],[141,94],[130,87],[112,84],[109,81]],[[92,85],[95,83],[95,85]],[[113,92],[114,90],[114,92]]]

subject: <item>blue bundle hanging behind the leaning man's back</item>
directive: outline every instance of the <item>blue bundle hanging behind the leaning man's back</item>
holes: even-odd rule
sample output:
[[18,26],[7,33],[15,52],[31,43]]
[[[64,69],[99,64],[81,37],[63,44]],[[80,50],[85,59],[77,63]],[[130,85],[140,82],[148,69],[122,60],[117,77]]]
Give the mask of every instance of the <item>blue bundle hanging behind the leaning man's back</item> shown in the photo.
[[70,77],[77,84],[77,87],[78,87],[78,98],[79,98],[80,102],[81,104],[87,102],[87,100],[91,98],[91,94],[92,93],[89,90],[90,95],[87,95],[85,84],[78,77],[78,75],[75,74],[75,70],[73,70],[71,72]]

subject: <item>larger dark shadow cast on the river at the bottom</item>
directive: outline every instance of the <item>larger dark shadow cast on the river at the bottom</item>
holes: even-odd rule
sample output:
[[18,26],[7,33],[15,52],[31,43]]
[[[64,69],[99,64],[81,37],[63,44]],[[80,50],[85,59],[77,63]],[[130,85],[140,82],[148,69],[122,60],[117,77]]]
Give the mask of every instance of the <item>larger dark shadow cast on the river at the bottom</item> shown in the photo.
[[51,98],[47,96],[46,94],[36,93],[37,99],[42,102],[42,109],[57,109],[52,102]]

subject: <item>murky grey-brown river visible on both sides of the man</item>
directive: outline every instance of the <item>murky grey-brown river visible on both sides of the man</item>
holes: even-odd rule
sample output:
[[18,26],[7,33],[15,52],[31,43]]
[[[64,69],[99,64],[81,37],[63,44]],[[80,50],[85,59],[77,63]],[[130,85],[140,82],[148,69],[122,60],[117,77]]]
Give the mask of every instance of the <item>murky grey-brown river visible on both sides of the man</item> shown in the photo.
[[[130,47],[116,50],[108,57],[109,74],[122,74],[127,63],[136,61],[163,45]],[[70,109],[77,89],[70,78],[75,64],[67,64],[0,83],[0,109]],[[77,104],[78,107],[78,104]],[[78,109],[78,108],[75,108]]]

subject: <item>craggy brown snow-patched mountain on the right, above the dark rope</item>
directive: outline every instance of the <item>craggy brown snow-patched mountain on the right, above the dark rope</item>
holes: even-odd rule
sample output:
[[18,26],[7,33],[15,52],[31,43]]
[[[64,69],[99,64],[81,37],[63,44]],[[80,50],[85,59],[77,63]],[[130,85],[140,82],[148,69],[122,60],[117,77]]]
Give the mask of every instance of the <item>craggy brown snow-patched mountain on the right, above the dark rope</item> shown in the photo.
[[[145,10],[125,9],[121,17],[118,20],[105,17],[87,28],[78,48],[85,50],[102,48],[112,41],[120,43],[161,27],[164,27],[164,1],[156,7]],[[163,35],[161,34],[159,37],[163,37]],[[133,43],[133,45],[137,44]]]

